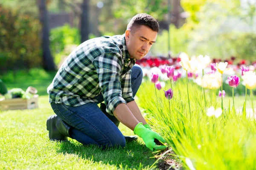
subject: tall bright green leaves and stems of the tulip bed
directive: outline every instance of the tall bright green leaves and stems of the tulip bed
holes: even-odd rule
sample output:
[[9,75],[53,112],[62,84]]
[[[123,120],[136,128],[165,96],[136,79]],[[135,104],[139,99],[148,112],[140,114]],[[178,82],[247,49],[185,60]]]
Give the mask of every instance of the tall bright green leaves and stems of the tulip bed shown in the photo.
[[[173,85],[174,97],[169,101],[163,90],[154,91],[154,84],[144,82],[138,91],[139,105],[147,113],[147,119],[166,138],[176,156],[189,168],[189,161],[196,170],[256,169],[256,121],[245,119],[239,109],[229,108],[229,98],[224,98],[224,111],[218,118],[208,117],[207,108],[221,107],[221,99],[206,93],[207,108],[204,107],[202,88],[189,82],[189,113],[186,80]],[[170,88],[167,82],[164,90]],[[216,92],[216,91],[215,91]],[[236,98],[236,107],[241,107],[244,97]],[[239,100],[238,100],[239,99]],[[253,97],[255,102],[255,97]],[[241,101],[240,101],[241,100]],[[232,100],[230,100],[232,107]],[[250,98],[247,97],[247,108]],[[248,115],[247,110],[247,115]]]

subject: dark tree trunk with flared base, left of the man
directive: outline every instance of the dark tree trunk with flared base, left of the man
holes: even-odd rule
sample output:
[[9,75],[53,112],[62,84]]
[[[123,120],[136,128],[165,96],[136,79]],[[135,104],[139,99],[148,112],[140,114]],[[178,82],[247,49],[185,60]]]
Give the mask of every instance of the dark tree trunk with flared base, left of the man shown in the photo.
[[42,50],[43,50],[43,67],[47,71],[54,71],[55,64],[49,48],[49,20],[46,7],[46,0],[38,0],[40,21],[42,24]]

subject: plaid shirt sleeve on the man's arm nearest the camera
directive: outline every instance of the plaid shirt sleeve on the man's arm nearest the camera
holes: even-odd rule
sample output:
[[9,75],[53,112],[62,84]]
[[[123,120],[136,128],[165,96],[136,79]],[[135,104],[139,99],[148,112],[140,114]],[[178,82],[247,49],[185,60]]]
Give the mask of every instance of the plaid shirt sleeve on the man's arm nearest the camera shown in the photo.
[[99,87],[102,90],[106,111],[113,115],[116,106],[125,103],[122,98],[121,82],[119,80],[122,69],[122,56],[109,51],[100,55],[93,61],[99,78]]

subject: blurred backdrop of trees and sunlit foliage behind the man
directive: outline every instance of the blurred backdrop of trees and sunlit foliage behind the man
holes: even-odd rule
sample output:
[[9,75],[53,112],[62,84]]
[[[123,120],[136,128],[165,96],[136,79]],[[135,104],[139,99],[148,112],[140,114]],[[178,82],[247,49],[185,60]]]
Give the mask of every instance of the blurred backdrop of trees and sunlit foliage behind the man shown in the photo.
[[138,13],[160,24],[149,56],[256,60],[256,0],[1,0],[0,75],[57,70],[81,42],[123,34]]

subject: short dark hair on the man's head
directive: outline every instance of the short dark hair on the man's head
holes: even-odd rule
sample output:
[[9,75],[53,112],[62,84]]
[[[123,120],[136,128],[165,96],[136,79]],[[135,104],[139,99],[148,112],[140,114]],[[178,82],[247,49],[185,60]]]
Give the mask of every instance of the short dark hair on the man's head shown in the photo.
[[127,29],[134,33],[140,26],[147,26],[152,31],[159,31],[159,24],[157,20],[149,14],[142,13],[132,17],[131,21],[127,25]]

